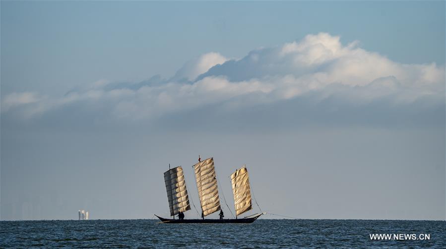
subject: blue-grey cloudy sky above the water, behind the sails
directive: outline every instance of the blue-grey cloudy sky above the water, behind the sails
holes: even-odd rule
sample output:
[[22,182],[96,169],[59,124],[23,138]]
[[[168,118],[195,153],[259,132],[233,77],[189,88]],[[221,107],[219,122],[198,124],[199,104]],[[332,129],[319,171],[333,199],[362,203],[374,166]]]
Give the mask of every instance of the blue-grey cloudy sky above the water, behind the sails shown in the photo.
[[445,1],[0,8],[1,220],[169,216],[169,163],[199,210],[198,155],[226,217],[246,164],[247,214],[446,219]]

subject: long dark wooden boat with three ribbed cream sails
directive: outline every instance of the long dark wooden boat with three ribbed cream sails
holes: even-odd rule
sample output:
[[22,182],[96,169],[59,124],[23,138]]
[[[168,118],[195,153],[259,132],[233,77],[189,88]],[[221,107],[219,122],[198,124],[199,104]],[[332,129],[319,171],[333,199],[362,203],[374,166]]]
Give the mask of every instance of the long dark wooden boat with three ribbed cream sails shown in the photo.
[[161,220],[160,223],[252,223],[263,214],[256,213],[244,218],[238,218],[239,215],[253,209],[250,181],[245,165],[231,174],[236,218],[205,219],[205,216],[221,210],[214,159],[212,157],[208,158],[196,163],[192,167],[195,171],[195,183],[200,199],[202,219],[175,219],[175,215],[178,215],[179,212],[191,210],[183,168],[179,166],[164,172],[170,215],[174,219],[162,218],[155,214]]

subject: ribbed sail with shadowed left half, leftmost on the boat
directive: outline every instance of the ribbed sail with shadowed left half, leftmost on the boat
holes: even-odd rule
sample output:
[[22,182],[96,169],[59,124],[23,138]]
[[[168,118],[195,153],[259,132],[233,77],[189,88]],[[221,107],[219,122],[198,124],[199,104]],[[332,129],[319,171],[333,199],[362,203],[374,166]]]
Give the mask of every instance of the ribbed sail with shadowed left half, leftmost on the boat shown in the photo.
[[164,183],[166,184],[167,199],[169,199],[170,215],[174,216],[179,211],[190,210],[191,205],[189,205],[183,168],[180,166],[164,172]]

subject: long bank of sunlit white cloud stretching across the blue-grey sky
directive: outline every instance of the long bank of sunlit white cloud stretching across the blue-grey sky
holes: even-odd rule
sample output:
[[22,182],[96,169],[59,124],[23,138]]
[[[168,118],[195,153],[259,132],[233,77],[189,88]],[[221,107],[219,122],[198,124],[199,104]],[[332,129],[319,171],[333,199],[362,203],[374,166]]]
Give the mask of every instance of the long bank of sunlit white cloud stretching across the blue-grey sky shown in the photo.
[[[42,112],[73,102],[102,101],[108,106],[105,111],[114,117],[144,119],[230,103],[253,94],[257,98],[243,103],[290,100],[309,93],[317,93],[314,98],[319,100],[336,95],[354,104],[383,97],[395,104],[408,104],[426,96],[444,101],[444,66],[402,64],[357,46],[357,41],[343,46],[338,36],[320,33],[281,47],[253,50],[240,60],[227,60],[211,52],[187,62],[163,84],[110,89],[111,85],[101,80],[91,89],[70,92],[61,98],[13,93],[2,101],[2,110],[34,104]],[[185,78],[187,82],[182,81]]]

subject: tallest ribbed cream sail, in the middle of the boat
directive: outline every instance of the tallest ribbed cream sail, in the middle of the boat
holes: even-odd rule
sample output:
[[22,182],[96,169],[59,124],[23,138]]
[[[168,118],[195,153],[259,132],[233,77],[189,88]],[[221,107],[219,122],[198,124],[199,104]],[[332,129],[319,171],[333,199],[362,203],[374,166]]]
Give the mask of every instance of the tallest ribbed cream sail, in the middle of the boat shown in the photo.
[[220,210],[214,159],[208,158],[193,165],[193,168],[195,169],[196,187],[203,215],[206,216]]

